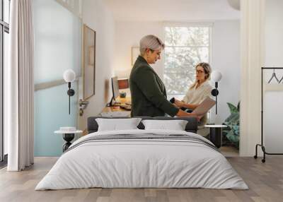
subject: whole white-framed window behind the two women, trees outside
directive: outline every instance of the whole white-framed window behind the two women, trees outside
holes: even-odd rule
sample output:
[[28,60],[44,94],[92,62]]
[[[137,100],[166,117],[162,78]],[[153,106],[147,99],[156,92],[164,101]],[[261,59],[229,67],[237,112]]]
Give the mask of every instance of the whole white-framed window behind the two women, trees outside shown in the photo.
[[182,99],[195,81],[195,65],[209,62],[211,26],[165,26],[164,83]]

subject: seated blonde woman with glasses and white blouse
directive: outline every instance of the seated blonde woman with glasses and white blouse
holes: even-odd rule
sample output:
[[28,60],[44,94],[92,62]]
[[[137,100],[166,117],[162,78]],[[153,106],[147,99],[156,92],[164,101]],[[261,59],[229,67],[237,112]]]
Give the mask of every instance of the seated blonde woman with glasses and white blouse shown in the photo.
[[[195,83],[193,83],[183,100],[176,100],[175,105],[178,107],[185,107],[188,109],[197,108],[200,103],[206,98],[210,97],[212,92],[212,86],[209,85],[209,77],[212,72],[208,63],[202,62],[195,66]],[[203,124],[207,121],[207,116],[204,116],[201,120]]]

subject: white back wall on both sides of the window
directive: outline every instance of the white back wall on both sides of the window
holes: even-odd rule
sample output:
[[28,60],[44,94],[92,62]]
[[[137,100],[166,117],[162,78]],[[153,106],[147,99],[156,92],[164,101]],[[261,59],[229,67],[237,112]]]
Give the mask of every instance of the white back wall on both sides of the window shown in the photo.
[[[115,73],[118,77],[129,77],[131,71],[131,47],[139,46],[144,35],[157,35],[163,39],[161,22],[116,22],[115,28]],[[219,83],[219,115],[216,123],[229,116],[226,102],[234,105],[239,100],[240,89],[240,21],[217,20],[212,29],[212,69],[223,74]],[[154,64],[158,76],[163,78],[163,61]],[[214,114],[212,112],[212,114]]]

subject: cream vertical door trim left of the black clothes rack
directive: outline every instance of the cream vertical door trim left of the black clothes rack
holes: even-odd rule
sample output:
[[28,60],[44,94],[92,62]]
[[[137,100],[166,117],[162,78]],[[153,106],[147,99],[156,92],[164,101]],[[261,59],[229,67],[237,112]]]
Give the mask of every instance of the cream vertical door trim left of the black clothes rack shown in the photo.
[[265,0],[241,1],[241,156],[255,155],[255,144],[260,143],[260,68],[264,64],[265,54],[264,15]]

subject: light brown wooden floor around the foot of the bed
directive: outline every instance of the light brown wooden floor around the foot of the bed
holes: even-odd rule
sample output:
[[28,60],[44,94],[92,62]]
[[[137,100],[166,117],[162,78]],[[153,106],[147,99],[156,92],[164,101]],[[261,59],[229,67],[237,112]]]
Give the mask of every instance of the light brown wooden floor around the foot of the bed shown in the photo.
[[34,191],[36,184],[57,158],[35,158],[35,165],[23,172],[0,170],[0,201],[283,201],[283,157],[228,157],[231,165],[250,187],[242,190],[216,189],[72,189]]

